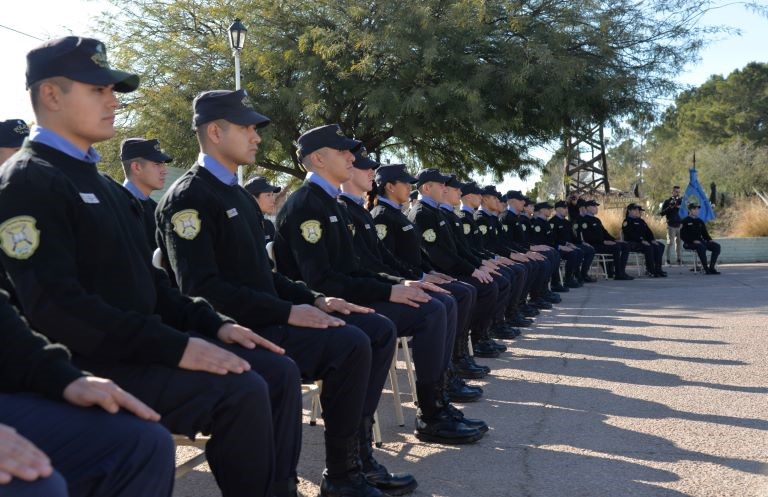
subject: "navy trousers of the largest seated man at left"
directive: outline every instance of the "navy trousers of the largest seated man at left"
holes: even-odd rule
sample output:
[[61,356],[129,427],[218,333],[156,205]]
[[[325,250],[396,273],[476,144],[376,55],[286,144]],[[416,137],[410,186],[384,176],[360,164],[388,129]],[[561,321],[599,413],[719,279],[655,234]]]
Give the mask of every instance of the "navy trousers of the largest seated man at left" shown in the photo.
[[271,496],[273,482],[296,476],[301,450],[299,370],[290,358],[265,349],[211,341],[248,361],[251,371],[222,376],[82,358],[75,364],[114,380],[151,406],[172,433],[210,434],[205,455],[222,497]]

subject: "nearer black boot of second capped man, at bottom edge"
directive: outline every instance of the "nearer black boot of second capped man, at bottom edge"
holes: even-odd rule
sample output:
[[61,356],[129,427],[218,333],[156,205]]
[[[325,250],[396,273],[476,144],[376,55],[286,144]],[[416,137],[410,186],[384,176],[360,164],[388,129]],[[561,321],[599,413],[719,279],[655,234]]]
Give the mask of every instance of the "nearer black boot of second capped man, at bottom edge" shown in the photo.
[[358,433],[351,437],[325,434],[325,471],[320,497],[383,497],[361,471]]

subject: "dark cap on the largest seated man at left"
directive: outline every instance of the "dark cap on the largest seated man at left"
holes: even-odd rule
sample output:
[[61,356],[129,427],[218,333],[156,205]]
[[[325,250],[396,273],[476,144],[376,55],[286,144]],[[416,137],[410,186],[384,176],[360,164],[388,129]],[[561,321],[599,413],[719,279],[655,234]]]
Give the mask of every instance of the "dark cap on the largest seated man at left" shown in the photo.
[[49,40],[27,53],[27,88],[56,76],[91,85],[115,85],[115,91],[121,93],[139,87],[136,74],[109,67],[104,43],[79,36]]

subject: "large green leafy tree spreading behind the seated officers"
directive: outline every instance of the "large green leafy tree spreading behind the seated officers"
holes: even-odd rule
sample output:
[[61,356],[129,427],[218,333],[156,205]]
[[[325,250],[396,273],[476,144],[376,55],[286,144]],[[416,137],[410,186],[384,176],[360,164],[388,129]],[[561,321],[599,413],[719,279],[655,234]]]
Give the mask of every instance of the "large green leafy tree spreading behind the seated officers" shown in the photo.
[[[467,177],[537,167],[529,147],[573,121],[641,112],[674,89],[703,32],[699,0],[111,0],[115,66],[142,75],[124,134],[159,138],[181,165],[190,102],[232,88],[227,27],[248,27],[243,87],[272,118],[260,166],[303,177],[293,140],[329,122],[374,154]],[[102,146],[107,157],[116,146]]]

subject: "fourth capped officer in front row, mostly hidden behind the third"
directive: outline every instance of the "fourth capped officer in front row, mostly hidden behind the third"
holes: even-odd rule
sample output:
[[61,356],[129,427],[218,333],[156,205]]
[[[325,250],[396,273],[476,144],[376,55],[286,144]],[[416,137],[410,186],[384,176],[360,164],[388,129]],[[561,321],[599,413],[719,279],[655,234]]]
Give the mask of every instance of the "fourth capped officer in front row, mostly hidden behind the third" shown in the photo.
[[[342,205],[342,213],[347,217],[347,224],[352,233],[355,245],[355,253],[360,258],[363,267],[370,271],[389,274],[401,278],[403,281],[421,281],[424,290],[432,298],[439,300],[446,309],[447,326],[450,333],[457,338],[451,344],[455,353],[456,341],[461,336],[459,326],[468,326],[468,319],[472,315],[472,293],[470,290],[458,287],[458,297],[454,298],[447,289],[443,289],[435,283],[424,280],[424,273],[413,271],[399,261],[389,249],[384,246],[377,235],[374,220],[371,213],[363,207],[363,195],[367,194],[373,185],[374,170],[379,164],[368,157],[365,147],[355,151],[355,162],[352,164],[352,176],[341,184],[339,204]],[[384,228],[386,230],[386,228]],[[384,255],[386,254],[386,255]],[[410,275],[410,276],[406,276]],[[449,282],[447,280],[446,282]],[[462,328],[463,331],[463,328]],[[466,339],[466,337],[465,337]],[[453,368],[446,357],[446,392],[452,402],[472,402],[482,396],[482,389],[470,387],[458,376],[453,374]]]

